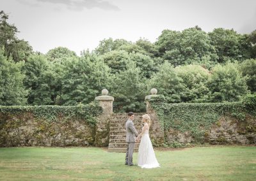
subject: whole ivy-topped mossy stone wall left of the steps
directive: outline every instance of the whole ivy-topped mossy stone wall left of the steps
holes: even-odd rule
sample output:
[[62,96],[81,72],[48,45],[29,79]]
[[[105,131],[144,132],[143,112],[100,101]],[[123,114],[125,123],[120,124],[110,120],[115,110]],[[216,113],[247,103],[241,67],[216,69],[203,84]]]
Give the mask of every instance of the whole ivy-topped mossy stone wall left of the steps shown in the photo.
[[79,106],[0,106],[0,147],[93,145],[95,103]]

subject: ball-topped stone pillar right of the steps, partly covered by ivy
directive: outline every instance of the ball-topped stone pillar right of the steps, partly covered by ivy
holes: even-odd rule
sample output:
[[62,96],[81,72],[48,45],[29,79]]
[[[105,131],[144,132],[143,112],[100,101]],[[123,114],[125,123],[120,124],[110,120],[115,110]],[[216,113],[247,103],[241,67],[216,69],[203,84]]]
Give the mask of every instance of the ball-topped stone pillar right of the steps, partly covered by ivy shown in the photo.
[[151,140],[155,145],[163,145],[164,143],[164,129],[161,127],[159,119],[157,117],[157,113],[150,105],[150,99],[159,96],[157,94],[157,89],[153,88],[150,91],[150,95],[145,97],[145,101],[147,102],[147,113],[150,115],[151,126],[150,126],[150,134]]

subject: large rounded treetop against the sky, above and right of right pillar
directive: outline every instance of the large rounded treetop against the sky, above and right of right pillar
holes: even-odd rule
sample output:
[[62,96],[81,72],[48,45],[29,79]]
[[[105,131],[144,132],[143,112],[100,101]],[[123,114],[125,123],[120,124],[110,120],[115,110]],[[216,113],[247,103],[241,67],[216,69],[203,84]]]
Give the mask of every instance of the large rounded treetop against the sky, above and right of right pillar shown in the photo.
[[215,62],[216,53],[211,45],[211,39],[198,27],[179,31],[164,30],[156,42],[164,60],[173,66],[198,62]]

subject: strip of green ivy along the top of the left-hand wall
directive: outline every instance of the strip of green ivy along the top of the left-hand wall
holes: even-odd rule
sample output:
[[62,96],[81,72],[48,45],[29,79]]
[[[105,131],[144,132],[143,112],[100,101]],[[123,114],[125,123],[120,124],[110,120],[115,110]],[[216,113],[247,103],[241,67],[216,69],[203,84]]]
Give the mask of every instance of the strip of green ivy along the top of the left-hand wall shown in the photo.
[[58,116],[65,119],[78,118],[88,122],[90,126],[95,126],[97,116],[102,113],[102,108],[98,103],[77,106],[0,106],[0,113],[4,115],[16,115],[21,113],[33,113],[37,119],[45,119],[49,122],[57,121]]

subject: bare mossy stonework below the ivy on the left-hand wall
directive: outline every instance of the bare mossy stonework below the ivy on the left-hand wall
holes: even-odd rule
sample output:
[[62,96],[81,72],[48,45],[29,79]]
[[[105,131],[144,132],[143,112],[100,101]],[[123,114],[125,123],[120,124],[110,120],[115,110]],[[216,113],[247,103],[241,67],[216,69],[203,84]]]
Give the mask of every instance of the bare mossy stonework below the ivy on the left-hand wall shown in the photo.
[[86,146],[93,145],[95,140],[95,127],[84,120],[59,116],[49,122],[35,119],[32,113],[0,113],[0,120],[0,147]]

